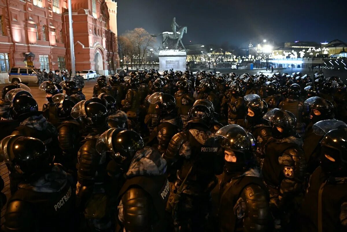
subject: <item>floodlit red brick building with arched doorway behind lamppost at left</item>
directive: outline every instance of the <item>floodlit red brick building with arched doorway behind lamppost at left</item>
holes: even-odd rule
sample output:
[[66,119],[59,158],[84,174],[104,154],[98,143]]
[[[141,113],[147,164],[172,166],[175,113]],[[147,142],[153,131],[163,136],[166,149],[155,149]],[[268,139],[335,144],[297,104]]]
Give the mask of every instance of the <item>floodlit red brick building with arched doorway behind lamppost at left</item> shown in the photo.
[[[117,3],[71,0],[76,70],[114,73],[117,53]],[[25,66],[23,53],[35,54],[34,66],[70,70],[67,0],[0,0],[0,81],[13,66]]]

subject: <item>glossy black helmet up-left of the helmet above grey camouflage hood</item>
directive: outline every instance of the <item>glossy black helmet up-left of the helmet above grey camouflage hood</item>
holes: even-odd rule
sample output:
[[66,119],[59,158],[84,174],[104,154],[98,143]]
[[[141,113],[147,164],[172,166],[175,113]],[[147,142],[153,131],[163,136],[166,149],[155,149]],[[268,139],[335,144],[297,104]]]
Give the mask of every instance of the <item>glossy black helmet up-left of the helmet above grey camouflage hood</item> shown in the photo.
[[71,110],[75,119],[81,117],[85,126],[91,128],[105,127],[108,121],[108,112],[104,105],[93,101],[80,101]]

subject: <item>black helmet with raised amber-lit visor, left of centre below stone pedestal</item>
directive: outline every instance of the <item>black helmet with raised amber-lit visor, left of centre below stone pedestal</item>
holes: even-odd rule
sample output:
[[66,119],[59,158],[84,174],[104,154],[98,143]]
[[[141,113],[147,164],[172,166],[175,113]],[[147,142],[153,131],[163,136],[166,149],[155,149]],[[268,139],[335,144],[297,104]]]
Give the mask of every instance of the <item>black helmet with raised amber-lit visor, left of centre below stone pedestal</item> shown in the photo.
[[176,100],[171,94],[155,92],[148,98],[148,102],[157,104],[156,114],[161,117],[172,114],[176,110]]

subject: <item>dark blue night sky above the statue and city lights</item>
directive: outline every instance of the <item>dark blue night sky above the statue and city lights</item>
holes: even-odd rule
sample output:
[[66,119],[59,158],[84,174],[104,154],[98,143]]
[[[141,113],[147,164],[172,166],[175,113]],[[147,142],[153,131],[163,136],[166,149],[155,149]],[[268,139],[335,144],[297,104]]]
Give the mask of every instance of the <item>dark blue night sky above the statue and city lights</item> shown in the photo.
[[[118,35],[135,27],[170,31],[173,17],[187,26],[184,44],[248,47],[274,42],[347,42],[346,0],[119,0]],[[189,42],[189,41],[192,42]]]

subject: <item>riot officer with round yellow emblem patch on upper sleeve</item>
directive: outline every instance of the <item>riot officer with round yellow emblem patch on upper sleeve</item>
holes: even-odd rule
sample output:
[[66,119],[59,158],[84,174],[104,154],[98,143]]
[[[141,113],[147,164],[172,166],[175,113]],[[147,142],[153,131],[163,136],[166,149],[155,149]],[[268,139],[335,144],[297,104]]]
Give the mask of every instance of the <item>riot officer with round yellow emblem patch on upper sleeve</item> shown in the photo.
[[270,192],[270,207],[275,229],[290,230],[303,194],[306,161],[303,141],[295,131],[293,113],[274,108],[263,117],[272,126],[272,138],[264,147],[262,162],[264,183]]

